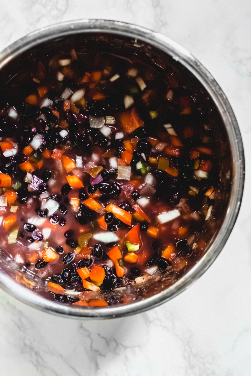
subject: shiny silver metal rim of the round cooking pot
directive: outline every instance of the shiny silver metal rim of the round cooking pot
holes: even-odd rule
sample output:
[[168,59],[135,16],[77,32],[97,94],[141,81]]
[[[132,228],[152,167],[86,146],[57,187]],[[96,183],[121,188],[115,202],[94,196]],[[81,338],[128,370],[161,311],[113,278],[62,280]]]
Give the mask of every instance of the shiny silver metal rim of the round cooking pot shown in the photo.
[[3,290],[30,306],[45,312],[65,315],[72,318],[113,318],[143,312],[154,308],[161,303],[167,302],[195,282],[195,280],[197,280],[212,264],[224,247],[239,213],[244,187],[245,159],[242,139],[236,118],[230,103],[218,83],[213,79],[207,69],[186,49],[166,36],[152,30],[129,23],[110,20],[85,19],[55,24],[24,36],[3,50],[0,53],[0,69],[20,53],[35,47],[35,45],[42,42],[48,42],[57,37],[60,38],[72,34],[90,32],[106,32],[140,39],[143,42],[154,45],[163,50],[172,56],[173,59],[183,64],[199,80],[199,82],[201,82],[205,89],[207,89],[218,108],[227,129],[233,163],[233,181],[231,185],[230,199],[228,202],[227,214],[222,222],[221,229],[205,255],[196,263],[196,265],[194,265],[188,273],[181,277],[181,279],[174,285],[161,293],[129,305],[108,306],[104,308],[73,307],[47,300],[44,297],[33,293],[17,284],[0,270],[0,286]]

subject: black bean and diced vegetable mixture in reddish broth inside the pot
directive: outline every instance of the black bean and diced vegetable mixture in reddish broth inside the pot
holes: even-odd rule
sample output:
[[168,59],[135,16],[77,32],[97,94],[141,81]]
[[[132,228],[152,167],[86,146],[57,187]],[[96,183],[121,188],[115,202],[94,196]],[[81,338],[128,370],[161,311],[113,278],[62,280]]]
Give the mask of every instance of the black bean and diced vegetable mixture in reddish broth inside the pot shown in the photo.
[[47,297],[110,305],[205,247],[212,138],[171,70],[77,49],[35,61],[0,90],[0,148],[0,246]]

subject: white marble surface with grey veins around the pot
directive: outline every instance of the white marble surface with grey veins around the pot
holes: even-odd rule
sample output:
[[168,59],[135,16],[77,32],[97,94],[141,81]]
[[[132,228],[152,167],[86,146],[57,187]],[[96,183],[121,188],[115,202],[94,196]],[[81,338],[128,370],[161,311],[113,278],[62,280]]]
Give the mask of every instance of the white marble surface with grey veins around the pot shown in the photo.
[[106,18],[159,31],[224,89],[246,150],[246,189],[221,255],[192,287],[152,311],[112,321],[44,314],[0,291],[2,376],[250,376],[251,2],[1,1],[0,49],[57,21]]

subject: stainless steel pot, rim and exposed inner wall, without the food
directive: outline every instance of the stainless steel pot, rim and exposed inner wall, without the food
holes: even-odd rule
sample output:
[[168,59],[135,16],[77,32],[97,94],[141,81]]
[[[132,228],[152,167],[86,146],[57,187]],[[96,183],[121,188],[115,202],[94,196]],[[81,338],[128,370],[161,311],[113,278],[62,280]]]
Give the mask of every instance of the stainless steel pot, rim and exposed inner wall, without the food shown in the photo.
[[[120,53],[124,49],[152,59],[178,64],[188,75],[196,77],[205,100],[210,98],[215,116],[220,118],[221,129],[216,129],[219,150],[220,187],[213,218],[204,226],[200,237],[206,240],[201,259],[181,276],[168,282],[163,279],[139,288],[141,300],[128,305],[105,308],[77,307],[48,300],[15,281],[18,269],[5,253],[0,253],[0,285],[12,296],[24,303],[54,314],[75,318],[112,318],[132,315],[154,308],[180,294],[198,279],[212,264],[226,243],[239,212],[244,185],[244,153],[236,118],[224,92],[211,74],[183,47],[160,33],[143,27],[106,20],[81,20],[65,22],[33,32],[0,53],[0,83],[20,71],[29,61],[41,54],[83,43],[106,43]],[[209,115],[210,117],[211,115]],[[210,121],[213,121],[211,119]],[[124,294],[125,292],[123,292]]]

